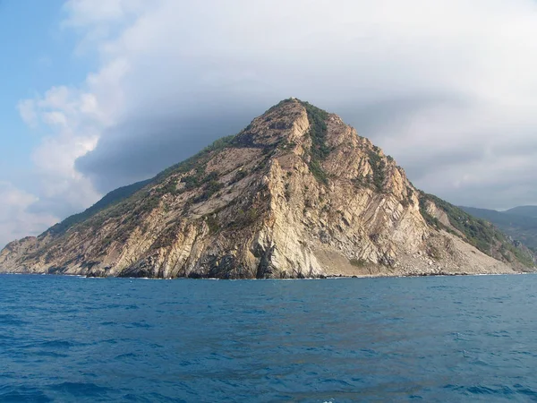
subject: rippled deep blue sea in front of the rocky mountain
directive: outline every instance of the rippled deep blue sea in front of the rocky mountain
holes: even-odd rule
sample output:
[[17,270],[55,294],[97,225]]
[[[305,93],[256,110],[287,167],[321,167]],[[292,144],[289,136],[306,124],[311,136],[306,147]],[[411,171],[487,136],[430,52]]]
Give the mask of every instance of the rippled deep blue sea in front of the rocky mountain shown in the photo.
[[0,401],[537,401],[537,276],[0,275]]

